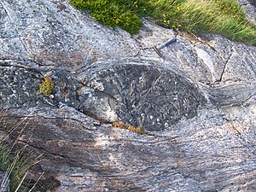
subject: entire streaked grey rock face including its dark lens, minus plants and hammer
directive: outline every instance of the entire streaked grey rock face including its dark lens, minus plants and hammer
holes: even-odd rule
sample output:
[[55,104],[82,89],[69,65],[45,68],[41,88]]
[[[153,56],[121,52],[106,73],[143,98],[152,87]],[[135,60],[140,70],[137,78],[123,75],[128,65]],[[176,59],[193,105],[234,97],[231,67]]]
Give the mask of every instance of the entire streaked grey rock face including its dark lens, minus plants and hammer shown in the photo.
[[256,47],[150,20],[131,37],[60,0],[0,18],[0,128],[44,153],[41,191],[256,190]]

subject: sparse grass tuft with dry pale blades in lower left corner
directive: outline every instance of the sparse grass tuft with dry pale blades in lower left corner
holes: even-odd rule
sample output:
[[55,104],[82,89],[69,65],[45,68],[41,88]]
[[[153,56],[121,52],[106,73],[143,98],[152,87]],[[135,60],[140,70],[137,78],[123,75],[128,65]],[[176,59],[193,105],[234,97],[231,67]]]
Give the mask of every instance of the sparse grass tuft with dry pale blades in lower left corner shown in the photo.
[[[27,144],[22,148],[18,148],[16,144],[20,135],[16,137],[15,141],[11,141],[11,138],[14,138],[12,133],[20,125],[24,124],[25,119],[15,125],[9,125],[6,123],[8,121],[4,119],[4,110],[1,110],[0,114],[3,114],[3,117],[0,118],[0,171],[5,172],[3,181],[0,181],[0,192],[7,188],[10,192],[31,192],[38,184],[41,176],[43,176],[42,174],[35,181],[32,180],[30,175],[42,154],[34,157],[32,153],[27,152]],[[25,127],[20,131],[20,134],[24,129]]]

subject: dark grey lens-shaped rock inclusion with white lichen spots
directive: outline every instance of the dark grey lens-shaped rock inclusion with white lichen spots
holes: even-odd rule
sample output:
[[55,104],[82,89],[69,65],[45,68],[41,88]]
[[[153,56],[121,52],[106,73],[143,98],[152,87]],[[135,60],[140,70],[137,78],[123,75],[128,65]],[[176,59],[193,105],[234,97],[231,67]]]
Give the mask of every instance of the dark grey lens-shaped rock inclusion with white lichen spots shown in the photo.
[[[195,117],[206,99],[180,75],[152,66],[113,66],[92,73],[86,84],[113,96],[119,121],[161,131],[181,119]],[[97,87],[98,86],[98,87]]]

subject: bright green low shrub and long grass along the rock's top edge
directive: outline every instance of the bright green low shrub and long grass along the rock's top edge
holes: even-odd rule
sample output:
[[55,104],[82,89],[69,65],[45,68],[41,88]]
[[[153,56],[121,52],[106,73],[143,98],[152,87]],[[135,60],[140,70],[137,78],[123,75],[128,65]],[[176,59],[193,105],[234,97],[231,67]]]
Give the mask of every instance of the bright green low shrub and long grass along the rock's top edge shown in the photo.
[[77,9],[88,10],[105,26],[120,26],[135,34],[141,17],[157,24],[200,33],[222,34],[231,40],[256,45],[256,26],[247,21],[235,0],[70,0]]

